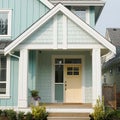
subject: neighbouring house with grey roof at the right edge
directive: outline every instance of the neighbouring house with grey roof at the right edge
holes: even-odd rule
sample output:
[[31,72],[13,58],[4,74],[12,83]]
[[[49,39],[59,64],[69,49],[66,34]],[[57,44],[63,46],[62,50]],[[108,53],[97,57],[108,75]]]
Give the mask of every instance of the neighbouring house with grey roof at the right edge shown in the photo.
[[120,28],[107,28],[106,39],[116,46],[116,55],[109,52],[103,57],[103,83],[116,84],[117,107],[120,107]]

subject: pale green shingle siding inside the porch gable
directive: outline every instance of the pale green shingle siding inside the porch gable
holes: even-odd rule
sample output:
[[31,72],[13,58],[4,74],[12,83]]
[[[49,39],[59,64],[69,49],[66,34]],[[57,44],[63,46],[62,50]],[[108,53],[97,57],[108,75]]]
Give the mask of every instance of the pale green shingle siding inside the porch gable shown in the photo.
[[[58,45],[63,42],[63,14],[57,14],[57,31],[54,33],[54,19],[51,18],[47,23],[41,26],[35,33],[27,38],[21,44],[46,44],[52,45],[54,42],[54,34],[57,35]],[[86,31],[77,26],[74,22],[67,18],[67,43],[69,44],[96,44],[99,43],[90,36]]]

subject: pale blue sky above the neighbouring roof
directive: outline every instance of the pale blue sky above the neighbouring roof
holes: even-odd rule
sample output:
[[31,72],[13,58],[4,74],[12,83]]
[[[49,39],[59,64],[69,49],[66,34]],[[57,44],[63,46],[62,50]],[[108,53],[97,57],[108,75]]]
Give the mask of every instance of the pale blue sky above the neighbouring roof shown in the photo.
[[106,0],[95,29],[104,36],[106,28],[120,28],[120,0]]

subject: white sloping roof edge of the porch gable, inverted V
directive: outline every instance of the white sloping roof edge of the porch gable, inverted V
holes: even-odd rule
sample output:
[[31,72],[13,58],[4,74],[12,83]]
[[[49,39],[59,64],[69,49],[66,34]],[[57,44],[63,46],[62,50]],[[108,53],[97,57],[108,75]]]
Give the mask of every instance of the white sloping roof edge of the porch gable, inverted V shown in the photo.
[[112,45],[109,41],[107,41],[103,36],[97,33],[88,24],[83,22],[76,15],[74,15],[71,11],[65,8],[62,4],[58,4],[53,9],[51,9],[46,15],[44,15],[41,19],[39,19],[35,24],[33,24],[28,30],[26,30],[22,35],[20,35],[9,46],[7,46],[4,50],[5,54],[8,54],[10,51],[12,51],[15,47],[17,47],[21,42],[23,42],[27,37],[29,37],[33,32],[35,32],[40,26],[45,24],[50,18],[52,18],[59,11],[61,11],[74,23],[76,23],[83,30],[85,30],[88,34],[90,34],[93,38],[95,38],[100,44],[102,44],[103,46],[111,50],[113,53],[116,53],[116,48],[114,45]]

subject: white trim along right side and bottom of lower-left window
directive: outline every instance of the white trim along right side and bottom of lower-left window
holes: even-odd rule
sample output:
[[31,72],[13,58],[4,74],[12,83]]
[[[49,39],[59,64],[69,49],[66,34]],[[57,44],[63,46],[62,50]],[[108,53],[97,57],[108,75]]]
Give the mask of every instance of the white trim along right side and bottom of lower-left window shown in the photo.
[[0,94],[0,98],[10,98],[10,56],[6,57],[6,94]]

